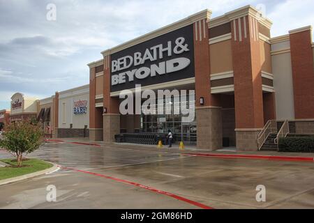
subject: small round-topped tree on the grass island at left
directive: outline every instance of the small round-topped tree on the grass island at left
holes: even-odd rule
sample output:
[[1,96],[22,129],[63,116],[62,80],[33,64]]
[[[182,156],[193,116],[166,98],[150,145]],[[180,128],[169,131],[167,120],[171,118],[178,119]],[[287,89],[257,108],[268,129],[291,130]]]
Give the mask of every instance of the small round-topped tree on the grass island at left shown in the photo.
[[32,153],[43,144],[43,130],[40,125],[29,121],[18,121],[6,125],[0,139],[0,147],[17,157],[17,166],[22,167],[24,153]]

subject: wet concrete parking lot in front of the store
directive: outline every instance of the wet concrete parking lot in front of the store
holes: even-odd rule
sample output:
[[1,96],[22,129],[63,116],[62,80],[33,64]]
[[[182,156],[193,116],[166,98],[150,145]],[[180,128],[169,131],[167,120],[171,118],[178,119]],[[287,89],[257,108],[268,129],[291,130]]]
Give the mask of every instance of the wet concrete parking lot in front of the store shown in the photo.
[[[68,142],[45,144],[31,157],[61,169],[0,186],[0,208],[314,208],[313,162]],[[57,202],[46,201],[48,185],[57,188]],[[265,187],[265,202],[256,200],[258,185]]]

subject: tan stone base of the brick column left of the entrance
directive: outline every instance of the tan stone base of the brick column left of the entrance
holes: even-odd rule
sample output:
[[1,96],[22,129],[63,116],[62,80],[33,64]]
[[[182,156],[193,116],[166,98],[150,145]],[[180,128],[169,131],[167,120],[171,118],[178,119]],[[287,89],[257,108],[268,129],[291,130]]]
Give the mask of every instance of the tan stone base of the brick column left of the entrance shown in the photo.
[[114,142],[114,135],[120,133],[120,115],[104,114],[103,116],[103,141]]

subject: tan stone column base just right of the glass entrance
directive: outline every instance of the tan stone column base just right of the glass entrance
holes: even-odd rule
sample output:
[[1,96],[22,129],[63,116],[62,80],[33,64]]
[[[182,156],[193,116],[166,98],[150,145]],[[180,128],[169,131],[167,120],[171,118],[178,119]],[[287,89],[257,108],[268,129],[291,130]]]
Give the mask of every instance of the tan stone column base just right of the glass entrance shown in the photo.
[[196,109],[197,148],[215,151],[223,147],[221,109]]

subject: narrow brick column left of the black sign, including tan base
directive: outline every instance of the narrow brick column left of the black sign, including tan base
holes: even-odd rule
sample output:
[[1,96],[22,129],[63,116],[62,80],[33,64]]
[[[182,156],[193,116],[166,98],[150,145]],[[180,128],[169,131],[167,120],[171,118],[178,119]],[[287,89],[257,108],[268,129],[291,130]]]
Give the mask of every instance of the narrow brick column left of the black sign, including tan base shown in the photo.
[[107,113],[103,114],[103,141],[114,142],[114,135],[120,133],[119,98],[110,97],[110,55],[104,56],[104,84],[103,84],[103,107]]

